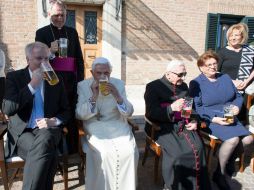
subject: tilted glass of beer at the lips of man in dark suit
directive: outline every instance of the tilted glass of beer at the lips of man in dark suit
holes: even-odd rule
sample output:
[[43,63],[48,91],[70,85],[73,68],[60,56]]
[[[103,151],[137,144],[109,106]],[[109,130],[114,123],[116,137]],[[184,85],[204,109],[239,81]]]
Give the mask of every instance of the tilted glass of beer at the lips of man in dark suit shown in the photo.
[[59,82],[59,79],[58,79],[55,71],[49,64],[49,62],[42,62],[41,63],[41,70],[43,72],[45,79],[48,81],[48,83],[50,85],[56,85]]

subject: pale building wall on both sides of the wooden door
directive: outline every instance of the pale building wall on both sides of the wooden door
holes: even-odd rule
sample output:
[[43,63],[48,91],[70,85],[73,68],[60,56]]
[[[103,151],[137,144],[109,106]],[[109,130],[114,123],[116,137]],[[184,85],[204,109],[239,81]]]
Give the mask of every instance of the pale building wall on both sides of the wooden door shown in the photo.
[[[161,77],[172,59],[186,63],[189,81],[199,73],[195,62],[205,48],[207,13],[254,14],[253,0],[125,0],[116,20],[115,5],[116,0],[103,5],[102,55],[112,62],[113,76],[129,85]],[[0,47],[7,70],[26,66],[24,47],[45,25],[40,11],[41,0],[0,1]]]

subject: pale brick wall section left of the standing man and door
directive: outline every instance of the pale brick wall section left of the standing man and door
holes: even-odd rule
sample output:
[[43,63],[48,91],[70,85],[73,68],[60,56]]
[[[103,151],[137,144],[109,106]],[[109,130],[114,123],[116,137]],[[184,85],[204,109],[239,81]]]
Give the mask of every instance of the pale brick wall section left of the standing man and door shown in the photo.
[[0,1],[0,48],[6,54],[7,70],[26,65],[24,48],[34,41],[36,7],[36,0]]

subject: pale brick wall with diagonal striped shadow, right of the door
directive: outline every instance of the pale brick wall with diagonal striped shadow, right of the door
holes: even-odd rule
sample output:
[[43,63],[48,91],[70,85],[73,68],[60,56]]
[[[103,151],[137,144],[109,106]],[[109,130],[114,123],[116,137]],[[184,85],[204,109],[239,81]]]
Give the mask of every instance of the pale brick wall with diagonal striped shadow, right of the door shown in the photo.
[[199,74],[208,13],[254,15],[252,0],[126,0],[123,6],[122,68],[127,84],[146,84],[180,59],[187,81]]

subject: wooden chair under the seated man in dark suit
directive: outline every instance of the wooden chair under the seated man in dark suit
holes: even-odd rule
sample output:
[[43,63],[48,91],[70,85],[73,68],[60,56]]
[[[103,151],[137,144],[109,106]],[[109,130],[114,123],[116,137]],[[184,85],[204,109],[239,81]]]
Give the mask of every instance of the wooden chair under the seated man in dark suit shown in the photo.
[[[20,170],[24,167],[25,161],[19,156],[13,156],[10,158],[5,158],[4,154],[4,135],[7,132],[7,125],[0,123],[0,169],[1,169],[1,178],[3,181],[4,189],[9,190],[13,184],[13,180],[19,174],[19,177],[22,178]],[[63,163],[62,173],[64,180],[64,189],[68,189],[68,159],[67,155],[61,154],[59,156],[60,162]],[[8,171],[12,169],[12,175],[8,176]],[[10,173],[10,172],[9,172]]]

